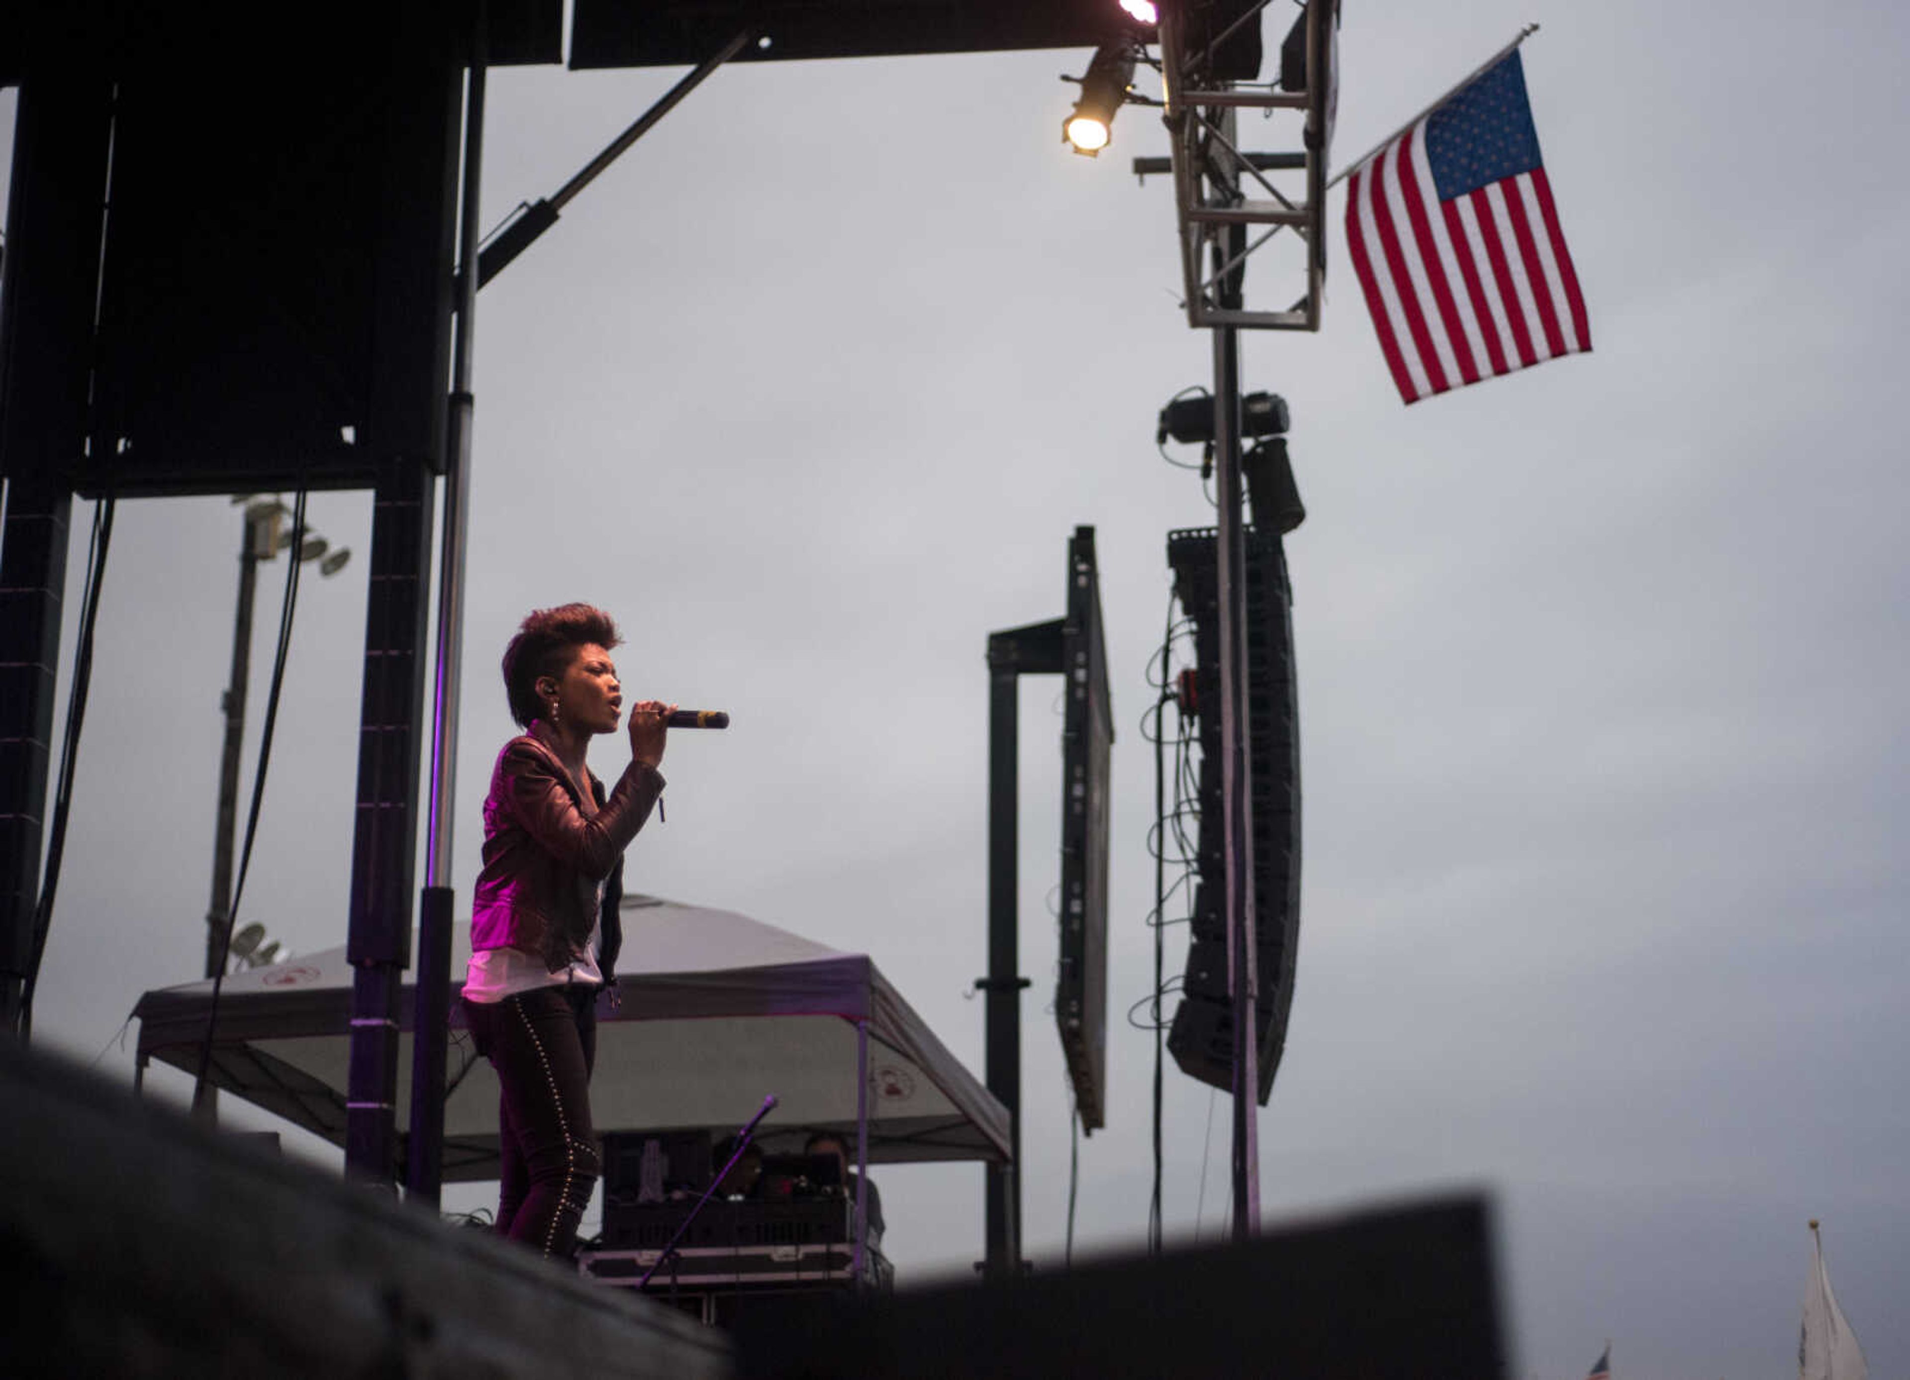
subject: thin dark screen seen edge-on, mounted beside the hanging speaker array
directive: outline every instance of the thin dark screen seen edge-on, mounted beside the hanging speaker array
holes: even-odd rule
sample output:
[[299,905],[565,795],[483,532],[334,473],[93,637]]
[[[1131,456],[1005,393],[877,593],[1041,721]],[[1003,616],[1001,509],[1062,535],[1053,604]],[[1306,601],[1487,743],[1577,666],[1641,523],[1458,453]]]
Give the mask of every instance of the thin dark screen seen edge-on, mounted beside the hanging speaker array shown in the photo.
[[1062,625],[1062,916],[1054,1021],[1081,1130],[1106,1126],[1108,1088],[1108,747],[1114,707],[1100,619],[1094,529],[1068,543]]

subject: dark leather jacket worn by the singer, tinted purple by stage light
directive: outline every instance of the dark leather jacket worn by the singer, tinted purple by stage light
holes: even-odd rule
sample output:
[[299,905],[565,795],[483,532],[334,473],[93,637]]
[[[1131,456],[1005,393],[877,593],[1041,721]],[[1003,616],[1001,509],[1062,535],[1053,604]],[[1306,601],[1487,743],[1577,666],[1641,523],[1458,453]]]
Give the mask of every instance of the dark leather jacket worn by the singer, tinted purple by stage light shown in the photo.
[[598,967],[617,973],[623,933],[623,851],[644,828],[663,793],[655,766],[630,763],[605,795],[590,776],[598,812],[584,814],[577,782],[546,742],[548,730],[512,738],[497,755],[483,803],[483,870],[472,900],[472,948],[521,948],[539,954],[552,973],[583,956],[598,921],[604,887],[604,935]]

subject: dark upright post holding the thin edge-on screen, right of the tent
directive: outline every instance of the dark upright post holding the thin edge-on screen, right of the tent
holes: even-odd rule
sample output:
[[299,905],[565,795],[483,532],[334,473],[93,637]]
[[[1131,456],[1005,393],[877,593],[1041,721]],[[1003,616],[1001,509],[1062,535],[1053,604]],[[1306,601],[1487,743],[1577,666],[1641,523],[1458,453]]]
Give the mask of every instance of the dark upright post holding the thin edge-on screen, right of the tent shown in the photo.
[[1020,721],[1014,658],[987,640],[987,1091],[1008,1109],[1008,1164],[987,1166],[987,1258],[991,1279],[1008,1279],[1022,1258],[1022,988],[1016,914],[1016,778]]

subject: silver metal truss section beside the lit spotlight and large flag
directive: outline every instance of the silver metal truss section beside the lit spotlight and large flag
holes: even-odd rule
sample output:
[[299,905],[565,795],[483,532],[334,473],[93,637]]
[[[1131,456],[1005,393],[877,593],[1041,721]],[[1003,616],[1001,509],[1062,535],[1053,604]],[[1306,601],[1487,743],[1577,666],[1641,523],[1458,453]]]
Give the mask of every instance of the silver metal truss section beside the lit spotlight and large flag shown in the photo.
[[[1196,36],[1190,21],[1199,0],[1161,0],[1159,6],[1161,84],[1180,218],[1180,279],[1188,325],[1196,329],[1320,329],[1339,0],[1306,4],[1306,80],[1305,90],[1297,92],[1280,90],[1278,80],[1236,82],[1215,76],[1215,50],[1240,25],[1261,23],[1266,4],[1268,0],[1257,0],[1207,42],[1201,42],[1203,32]],[[1301,115],[1303,151],[1242,153],[1236,132],[1242,109]],[[1282,193],[1266,178],[1272,170],[1305,172],[1305,197],[1295,201]],[[1293,229],[1306,241],[1305,292],[1284,312],[1247,310],[1242,291],[1247,260],[1282,229]]]

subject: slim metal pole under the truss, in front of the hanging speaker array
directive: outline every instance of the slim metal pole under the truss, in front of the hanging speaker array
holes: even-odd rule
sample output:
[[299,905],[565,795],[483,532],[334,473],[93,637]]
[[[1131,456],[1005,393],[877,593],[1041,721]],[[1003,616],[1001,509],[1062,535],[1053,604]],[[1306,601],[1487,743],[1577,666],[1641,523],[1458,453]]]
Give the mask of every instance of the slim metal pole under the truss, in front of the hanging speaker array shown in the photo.
[[[1234,119],[1224,120],[1234,141]],[[1236,254],[1243,227],[1234,227],[1215,247]],[[1240,306],[1240,266],[1220,283],[1222,310]],[[1219,533],[1215,573],[1220,604],[1220,801],[1226,849],[1226,958],[1234,1017],[1234,1240],[1255,1235],[1261,1219],[1259,1172],[1259,1019],[1257,1019],[1257,925],[1253,914],[1253,820],[1247,757],[1247,581],[1242,531],[1240,482],[1240,331],[1213,327],[1215,463]]]

